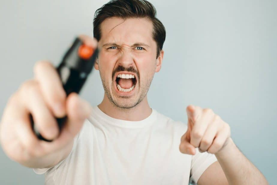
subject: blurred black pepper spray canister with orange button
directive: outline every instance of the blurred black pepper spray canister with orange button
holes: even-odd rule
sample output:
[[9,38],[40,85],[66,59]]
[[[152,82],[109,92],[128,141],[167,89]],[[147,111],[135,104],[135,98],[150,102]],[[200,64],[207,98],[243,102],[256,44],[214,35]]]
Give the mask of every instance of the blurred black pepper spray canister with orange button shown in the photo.
[[[78,37],[74,40],[72,46],[65,53],[61,63],[56,68],[60,76],[63,88],[68,96],[71,92],[79,93],[82,86],[84,85],[88,74],[91,72],[94,66],[94,62],[98,55],[98,49],[95,50],[90,46],[82,43]],[[67,116],[63,118],[56,118],[58,122],[59,133],[61,132]],[[43,138],[37,130],[32,115],[30,114],[30,121],[32,129],[38,139],[51,142]]]

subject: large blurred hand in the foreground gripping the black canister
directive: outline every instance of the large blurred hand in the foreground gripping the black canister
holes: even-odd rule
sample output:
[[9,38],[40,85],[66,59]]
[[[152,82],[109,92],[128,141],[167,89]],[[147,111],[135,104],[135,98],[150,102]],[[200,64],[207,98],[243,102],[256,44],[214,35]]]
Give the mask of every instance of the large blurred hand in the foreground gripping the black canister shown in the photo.
[[[79,37],[94,48],[97,46],[96,40]],[[53,139],[52,142],[37,139],[29,113],[40,134]],[[24,166],[43,168],[55,165],[69,154],[74,137],[90,113],[91,106],[78,94],[71,93],[66,97],[58,72],[49,61],[37,62],[34,79],[24,82],[4,109],[0,124],[2,148],[10,159]],[[59,133],[55,117],[65,115],[67,122]]]

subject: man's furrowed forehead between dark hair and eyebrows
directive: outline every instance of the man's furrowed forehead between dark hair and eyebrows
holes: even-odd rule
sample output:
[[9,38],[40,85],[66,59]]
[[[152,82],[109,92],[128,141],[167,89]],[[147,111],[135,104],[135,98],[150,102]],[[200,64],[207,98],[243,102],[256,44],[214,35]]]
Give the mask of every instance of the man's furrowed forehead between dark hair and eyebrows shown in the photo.
[[[153,24],[146,18],[122,19],[112,17],[101,23],[100,44],[115,42],[118,44],[130,44],[144,42],[151,44]],[[153,43],[152,43],[153,44]]]

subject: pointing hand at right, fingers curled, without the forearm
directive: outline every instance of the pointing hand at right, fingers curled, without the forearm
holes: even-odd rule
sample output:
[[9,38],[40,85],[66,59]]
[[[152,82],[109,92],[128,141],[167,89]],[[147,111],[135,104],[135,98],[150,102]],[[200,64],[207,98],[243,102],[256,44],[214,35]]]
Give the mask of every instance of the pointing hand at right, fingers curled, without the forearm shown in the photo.
[[216,154],[227,145],[231,139],[230,126],[212,109],[189,105],[186,111],[188,129],[181,137],[180,152],[194,155],[198,148],[200,152]]

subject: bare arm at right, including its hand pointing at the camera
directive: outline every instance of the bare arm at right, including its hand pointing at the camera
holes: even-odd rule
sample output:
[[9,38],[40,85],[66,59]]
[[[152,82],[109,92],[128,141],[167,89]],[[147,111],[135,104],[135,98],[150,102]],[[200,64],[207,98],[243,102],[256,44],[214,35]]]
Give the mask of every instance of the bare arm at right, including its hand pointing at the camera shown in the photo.
[[[239,151],[231,139],[230,126],[211,109],[188,106],[188,130],[181,137],[180,151],[184,154],[208,152],[218,163],[210,165],[198,179],[200,185],[268,184],[263,174]],[[225,175],[223,175],[223,173]]]

